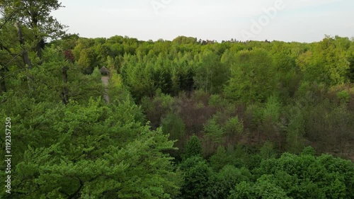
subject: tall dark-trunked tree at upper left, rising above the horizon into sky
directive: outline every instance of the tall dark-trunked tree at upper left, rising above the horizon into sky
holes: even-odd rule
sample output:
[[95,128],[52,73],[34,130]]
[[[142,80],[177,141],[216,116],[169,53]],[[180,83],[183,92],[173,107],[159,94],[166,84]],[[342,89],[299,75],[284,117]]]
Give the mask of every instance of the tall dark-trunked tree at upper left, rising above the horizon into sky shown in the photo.
[[45,40],[64,34],[64,25],[51,16],[62,5],[57,0],[2,0],[0,5],[0,93],[13,88],[12,78],[25,79],[21,90],[35,91],[38,82],[30,69],[42,64]]

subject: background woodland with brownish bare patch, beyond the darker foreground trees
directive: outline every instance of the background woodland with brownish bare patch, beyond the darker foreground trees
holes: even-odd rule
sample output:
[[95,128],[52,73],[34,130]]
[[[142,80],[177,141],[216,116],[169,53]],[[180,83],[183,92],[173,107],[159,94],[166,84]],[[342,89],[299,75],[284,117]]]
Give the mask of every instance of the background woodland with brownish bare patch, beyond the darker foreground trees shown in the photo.
[[279,152],[312,145],[343,157],[353,153],[354,42],[348,38],[307,44],[69,35],[51,45],[84,74],[108,67],[111,81],[142,105],[152,127],[163,127],[182,150],[195,134],[206,156],[219,145],[265,141]]

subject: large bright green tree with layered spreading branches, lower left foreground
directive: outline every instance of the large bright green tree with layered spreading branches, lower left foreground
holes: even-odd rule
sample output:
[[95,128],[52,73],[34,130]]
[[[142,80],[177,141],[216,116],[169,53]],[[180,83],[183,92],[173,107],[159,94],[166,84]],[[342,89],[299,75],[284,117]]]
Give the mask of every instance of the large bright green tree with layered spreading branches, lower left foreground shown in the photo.
[[[161,152],[173,149],[173,142],[161,129],[142,125],[137,106],[125,101],[108,107],[90,100],[87,106],[72,102],[46,113],[54,111],[55,120],[33,118],[55,123],[26,139],[46,140],[45,145],[23,144],[23,158],[13,168],[13,198],[170,198],[178,192],[171,157]],[[21,127],[18,134],[27,129]]]

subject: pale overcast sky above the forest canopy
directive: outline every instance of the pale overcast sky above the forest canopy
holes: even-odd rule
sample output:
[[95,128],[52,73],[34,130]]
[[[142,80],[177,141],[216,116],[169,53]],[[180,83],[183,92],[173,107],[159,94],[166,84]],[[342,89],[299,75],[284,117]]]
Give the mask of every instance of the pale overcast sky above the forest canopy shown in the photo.
[[[59,0],[60,1],[60,0]],[[52,13],[85,38],[282,40],[354,36],[353,0],[62,0]]]

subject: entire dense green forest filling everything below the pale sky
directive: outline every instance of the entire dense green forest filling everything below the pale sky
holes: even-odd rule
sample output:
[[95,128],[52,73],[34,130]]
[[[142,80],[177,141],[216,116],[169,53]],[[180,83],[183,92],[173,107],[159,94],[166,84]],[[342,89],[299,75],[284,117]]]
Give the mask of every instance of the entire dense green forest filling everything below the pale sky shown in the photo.
[[0,5],[0,198],[354,198],[353,38],[81,38],[56,0]]

